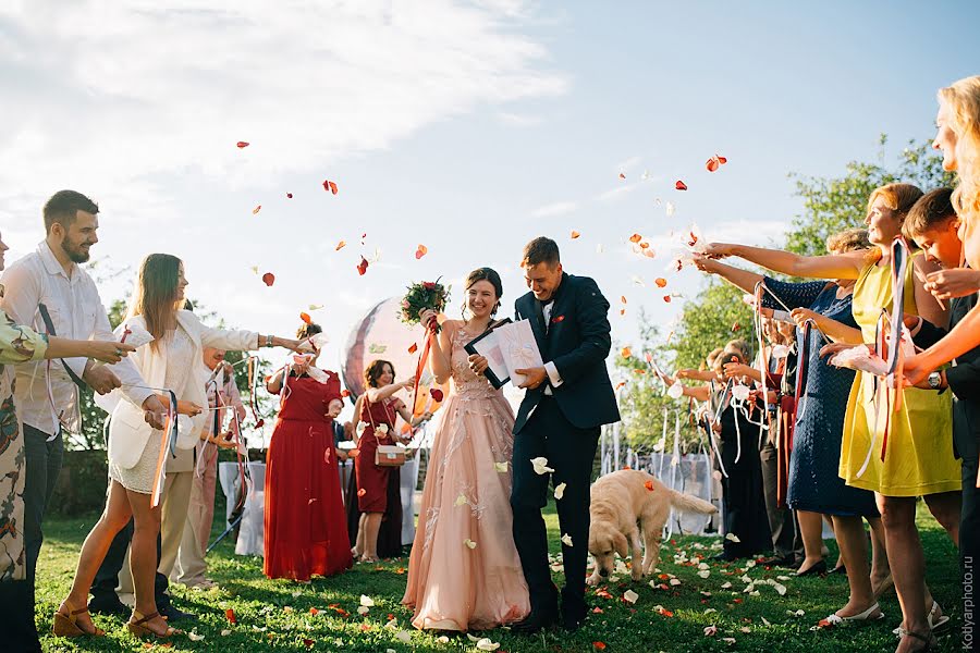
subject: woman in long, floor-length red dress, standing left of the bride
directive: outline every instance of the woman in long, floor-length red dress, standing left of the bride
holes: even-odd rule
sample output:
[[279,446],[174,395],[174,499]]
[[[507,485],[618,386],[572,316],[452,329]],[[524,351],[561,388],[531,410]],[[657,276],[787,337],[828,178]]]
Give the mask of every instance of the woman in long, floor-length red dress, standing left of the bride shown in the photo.
[[[320,331],[306,324],[297,337]],[[332,422],[343,407],[340,378],[324,370],[320,383],[307,373],[315,357],[293,362],[266,382],[282,399],[266,457],[264,571],[302,582],[353,564],[333,446]]]

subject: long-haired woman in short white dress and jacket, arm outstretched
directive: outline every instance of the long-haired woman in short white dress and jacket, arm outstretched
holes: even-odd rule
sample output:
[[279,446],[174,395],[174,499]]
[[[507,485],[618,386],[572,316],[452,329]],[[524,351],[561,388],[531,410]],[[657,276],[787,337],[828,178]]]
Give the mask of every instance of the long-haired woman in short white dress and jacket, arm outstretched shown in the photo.
[[[207,415],[205,379],[201,378],[203,347],[229,350],[279,346],[298,350],[295,340],[259,335],[252,331],[222,331],[201,324],[184,306],[184,264],[169,254],[151,254],[143,260],[128,315],[117,329],[144,329],[154,341],[132,356],[147,387],[146,396],[168,389],[177,398],[180,434],[177,446],[191,448],[197,443]],[[118,394],[119,391],[115,391]],[[164,404],[166,396],[161,395]],[[109,428],[109,493],[106,509],[82,545],[78,568],[71,592],[54,613],[53,631],[63,637],[105,634],[84,609],[96,571],[115,534],[134,520],[130,568],[135,586],[136,605],[126,627],[137,636],[167,638],[175,632],[157,613],[154,600],[154,574],[157,568],[157,534],[160,506],[150,507],[154,481],[163,431],[152,429],[143,419],[142,409],[121,399],[111,410]],[[191,419],[193,418],[193,419]],[[186,427],[186,428],[185,428]],[[81,608],[81,609],[79,609]]]

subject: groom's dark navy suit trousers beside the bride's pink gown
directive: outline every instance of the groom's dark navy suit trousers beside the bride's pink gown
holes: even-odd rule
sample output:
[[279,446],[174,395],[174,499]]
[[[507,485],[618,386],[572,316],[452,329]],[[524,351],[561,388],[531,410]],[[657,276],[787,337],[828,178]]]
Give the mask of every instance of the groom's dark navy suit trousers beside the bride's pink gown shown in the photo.
[[558,590],[548,565],[548,531],[541,508],[548,503],[548,475],[535,473],[531,458],[546,457],[553,485],[566,483],[556,502],[562,534],[572,538],[572,546],[562,544],[565,587],[562,612],[580,620],[585,603],[585,572],[589,543],[589,481],[599,444],[599,428],[577,429],[562,415],[553,398],[543,397],[530,419],[514,436],[514,543],[530,592],[531,609],[556,611]]

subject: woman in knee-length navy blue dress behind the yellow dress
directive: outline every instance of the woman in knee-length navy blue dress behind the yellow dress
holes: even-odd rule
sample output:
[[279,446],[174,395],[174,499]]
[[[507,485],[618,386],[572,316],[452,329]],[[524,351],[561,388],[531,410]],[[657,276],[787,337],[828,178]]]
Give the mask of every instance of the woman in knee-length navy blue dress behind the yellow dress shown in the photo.
[[[868,247],[867,232],[847,230],[828,238],[832,254],[843,254]],[[837,475],[841,459],[844,414],[854,381],[854,372],[828,365],[820,358],[825,344],[823,334],[844,337],[848,330],[857,331],[850,310],[853,281],[787,283],[754,272],[739,270],[713,259],[698,259],[698,268],[719,274],[746,292],[754,292],[763,282],[763,307],[792,311],[798,326],[810,322],[809,337],[797,329],[797,350],[807,352],[801,361],[803,392],[797,397],[796,426],[789,456],[789,488],[787,503],[797,510],[808,559],[821,557],[821,516],[833,519],[834,533],[850,584],[847,604],[824,621],[878,620],[882,618],[878,596],[891,581],[881,518],[871,492],[850,488]],[[868,546],[861,519],[872,530],[872,566],[868,566]]]

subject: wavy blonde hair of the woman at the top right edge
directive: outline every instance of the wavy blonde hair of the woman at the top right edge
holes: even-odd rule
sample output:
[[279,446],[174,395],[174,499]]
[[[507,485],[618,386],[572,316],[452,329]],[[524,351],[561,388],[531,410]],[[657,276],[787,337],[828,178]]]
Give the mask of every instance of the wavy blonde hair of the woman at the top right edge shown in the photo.
[[980,75],[941,88],[938,97],[950,109],[950,128],[956,134],[959,187],[953,206],[967,222],[980,222]]

